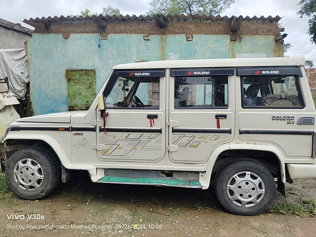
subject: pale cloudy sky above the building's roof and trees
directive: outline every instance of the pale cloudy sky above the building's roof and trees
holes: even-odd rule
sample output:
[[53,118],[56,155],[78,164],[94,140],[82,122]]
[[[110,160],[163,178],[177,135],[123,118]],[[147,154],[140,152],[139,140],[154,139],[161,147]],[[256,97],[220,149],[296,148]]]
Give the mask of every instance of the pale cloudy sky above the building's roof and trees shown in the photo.
[[[148,2],[150,0],[0,0],[0,18],[21,23],[24,18],[76,15],[85,8],[101,13],[102,7],[107,5],[119,8],[123,15],[140,15],[148,11]],[[285,28],[284,33],[288,34],[284,41],[292,45],[286,55],[303,54],[307,60],[313,60],[316,64],[316,45],[311,43],[307,34],[308,18],[300,18],[296,14],[300,9],[298,2],[299,0],[236,0],[221,15],[279,15],[282,17],[279,23]],[[31,28],[24,23],[22,25]]]

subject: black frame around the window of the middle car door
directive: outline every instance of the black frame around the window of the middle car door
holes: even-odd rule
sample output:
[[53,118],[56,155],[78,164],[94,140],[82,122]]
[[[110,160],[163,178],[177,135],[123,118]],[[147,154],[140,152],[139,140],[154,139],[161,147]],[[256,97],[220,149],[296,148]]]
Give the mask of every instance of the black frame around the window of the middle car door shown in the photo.
[[[216,109],[228,109],[229,108],[229,76],[231,75],[209,75],[207,77],[211,77],[212,78],[212,107],[196,107],[196,106],[188,106],[188,107],[175,107],[174,106],[174,103],[175,103],[175,94],[174,94],[174,90],[173,90],[173,109],[174,110],[216,110]],[[175,87],[175,80],[176,78],[181,78],[181,77],[188,77],[188,76],[173,76],[174,78],[174,83],[173,83],[173,86]],[[205,76],[196,76],[196,77],[203,77],[205,78]],[[215,77],[227,77],[227,106],[213,106],[214,105],[214,89],[215,89],[215,86],[214,86],[214,81],[215,81]],[[206,84],[203,84],[203,85],[206,85]],[[204,97],[205,97],[205,93],[204,93]],[[205,99],[205,98],[204,98]],[[225,98],[224,98],[225,100]]]

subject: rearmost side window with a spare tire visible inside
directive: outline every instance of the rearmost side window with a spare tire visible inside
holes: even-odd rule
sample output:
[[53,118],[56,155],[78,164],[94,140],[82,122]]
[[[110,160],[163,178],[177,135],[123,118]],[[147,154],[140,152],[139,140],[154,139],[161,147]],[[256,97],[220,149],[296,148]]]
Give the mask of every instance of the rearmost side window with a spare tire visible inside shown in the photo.
[[244,76],[243,108],[303,108],[297,76]]

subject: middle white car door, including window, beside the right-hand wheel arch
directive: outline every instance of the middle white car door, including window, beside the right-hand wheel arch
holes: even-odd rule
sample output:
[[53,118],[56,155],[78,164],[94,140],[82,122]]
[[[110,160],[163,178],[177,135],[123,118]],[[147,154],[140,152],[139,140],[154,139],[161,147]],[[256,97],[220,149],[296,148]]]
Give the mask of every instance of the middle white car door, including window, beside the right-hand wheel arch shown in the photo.
[[172,69],[169,82],[169,158],[205,163],[234,138],[234,68]]

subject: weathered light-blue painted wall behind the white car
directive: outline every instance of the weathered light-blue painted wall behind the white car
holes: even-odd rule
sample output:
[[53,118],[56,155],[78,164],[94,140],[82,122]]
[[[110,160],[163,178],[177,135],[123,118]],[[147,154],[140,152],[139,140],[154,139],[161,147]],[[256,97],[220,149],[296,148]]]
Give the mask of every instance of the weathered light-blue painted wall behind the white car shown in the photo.
[[237,41],[230,41],[229,35],[194,35],[193,41],[185,35],[143,37],[110,34],[100,40],[99,34],[72,34],[65,40],[61,34],[33,34],[27,54],[34,115],[68,111],[66,69],[94,69],[98,91],[111,68],[122,63],[234,58],[236,53],[283,55],[275,36],[241,36]]

